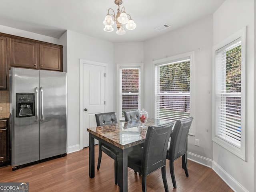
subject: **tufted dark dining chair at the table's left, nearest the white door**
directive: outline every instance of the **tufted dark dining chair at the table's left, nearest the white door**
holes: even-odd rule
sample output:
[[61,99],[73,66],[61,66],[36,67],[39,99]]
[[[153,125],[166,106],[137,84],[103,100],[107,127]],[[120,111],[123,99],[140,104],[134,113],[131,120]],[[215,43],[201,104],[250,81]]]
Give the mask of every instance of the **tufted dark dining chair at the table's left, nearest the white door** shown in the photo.
[[[117,123],[116,112],[95,114],[97,126],[111,125]],[[115,184],[118,183],[118,152],[99,141],[99,158],[97,169],[100,169],[102,151],[114,159]]]

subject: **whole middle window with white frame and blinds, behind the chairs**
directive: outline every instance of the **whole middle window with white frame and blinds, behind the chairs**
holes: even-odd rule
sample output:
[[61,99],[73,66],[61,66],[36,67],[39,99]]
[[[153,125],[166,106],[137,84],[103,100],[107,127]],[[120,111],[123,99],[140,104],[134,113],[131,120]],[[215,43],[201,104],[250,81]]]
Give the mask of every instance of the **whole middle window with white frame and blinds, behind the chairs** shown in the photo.
[[[194,52],[155,62],[155,118],[176,122],[194,116],[194,107],[191,110],[193,58]],[[190,134],[194,135],[194,127]]]

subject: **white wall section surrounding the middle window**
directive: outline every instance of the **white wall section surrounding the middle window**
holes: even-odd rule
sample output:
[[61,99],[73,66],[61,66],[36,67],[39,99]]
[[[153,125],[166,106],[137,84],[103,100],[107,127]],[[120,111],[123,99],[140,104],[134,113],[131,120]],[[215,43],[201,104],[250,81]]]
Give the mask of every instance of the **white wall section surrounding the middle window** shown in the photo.
[[[212,165],[212,26],[213,18],[208,16],[144,43],[144,100],[150,117],[154,117],[152,61],[195,52],[195,136],[188,137],[188,157],[208,166]],[[199,147],[194,145],[195,138],[200,140]]]

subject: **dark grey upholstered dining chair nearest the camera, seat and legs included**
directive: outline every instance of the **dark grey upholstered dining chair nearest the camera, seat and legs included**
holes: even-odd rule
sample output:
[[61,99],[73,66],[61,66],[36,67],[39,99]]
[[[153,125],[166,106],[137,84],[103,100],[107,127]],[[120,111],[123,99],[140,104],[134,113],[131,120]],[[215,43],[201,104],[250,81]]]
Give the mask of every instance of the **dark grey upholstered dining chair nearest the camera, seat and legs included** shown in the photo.
[[162,169],[164,189],[168,192],[166,180],[166,153],[173,122],[149,126],[143,147],[128,153],[128,167],[142,175],[142,191],[146,192],[146,176]]

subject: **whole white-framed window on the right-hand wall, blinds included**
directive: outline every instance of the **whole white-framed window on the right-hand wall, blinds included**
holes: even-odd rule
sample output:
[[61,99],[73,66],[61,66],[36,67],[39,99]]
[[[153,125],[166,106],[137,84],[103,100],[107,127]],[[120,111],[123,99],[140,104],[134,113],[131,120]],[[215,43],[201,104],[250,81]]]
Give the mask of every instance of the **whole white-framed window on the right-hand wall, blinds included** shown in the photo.
[[[238,33],[239,34],[239,33]],[[244,157],[244,37],[234,36],[214,47],[214,138],[234,154]]]

